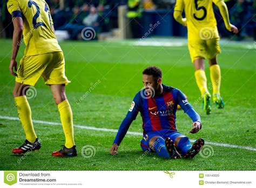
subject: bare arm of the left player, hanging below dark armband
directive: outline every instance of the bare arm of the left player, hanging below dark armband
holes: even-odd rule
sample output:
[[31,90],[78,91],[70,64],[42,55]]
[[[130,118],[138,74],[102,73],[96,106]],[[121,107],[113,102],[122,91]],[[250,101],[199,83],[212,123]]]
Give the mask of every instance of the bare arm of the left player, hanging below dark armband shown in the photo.
[[14,35],[12,37],[12,52],[9,70],[12,75],[17,76],[17,74],[14,72],[14,69],[17,71],[16,57],[22,40],[23,20],[21,17],[16,17],[12,23],[14,24]]

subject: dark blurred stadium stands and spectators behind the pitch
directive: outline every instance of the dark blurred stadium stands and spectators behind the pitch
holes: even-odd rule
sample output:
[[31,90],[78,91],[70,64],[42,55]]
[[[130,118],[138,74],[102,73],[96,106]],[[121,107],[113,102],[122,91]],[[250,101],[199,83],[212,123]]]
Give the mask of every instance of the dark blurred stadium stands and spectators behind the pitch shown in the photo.
[[[11,15],[6,9],[8,0],[1,1],[0,33],[2,38],[11,38],[13,26]],[[51,15],[58,40],[79,40],[84,27],[91,27],[95,40],[120,40],[149,36],[185,37],[186,29],[175,22],[173,8],[176,0],[45,0],[51,9]],[[256,2],[253,0],[231,0],[227,4],[231,23],[239,29],[232,34],[225,29],[217,6],[214,6],[215,18],[221,37],[232,40],[256,38],[255,16]],[[136,13],[137,12],[137,13]],[[138,13],[139,12],[139,13]],[[159,23],[152,30],[152,26]],[[4,29],[4,30],[3,30]],[[152,30],[151,32],[150,29]],[[93,31],[93,32],[94,32]],[[89,32],[89,31],[88,31]],[[89,34],[90,33],[83,33]],[[145,36],[144,36],[145,37]]]

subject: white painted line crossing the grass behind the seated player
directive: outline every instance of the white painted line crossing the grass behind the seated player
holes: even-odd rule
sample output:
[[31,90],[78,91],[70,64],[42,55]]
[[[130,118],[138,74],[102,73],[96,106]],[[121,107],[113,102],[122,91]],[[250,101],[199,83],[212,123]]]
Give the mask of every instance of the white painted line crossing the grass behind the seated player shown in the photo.
[[[18,117],[9,117],[9,116],[0,116],[0,119],[19,121]],[[42,123],[42,124],[50,124],[52,126],[61,126],[62,125],[61,123],[57,123],[57,122],[41,121],[41,120],[33,120],[33,122]],[[117,129],[106,129],[106,128],[97,128],[97,127],[89,127],[89,126],[79,126],[78,124],[74,124],[74,127],[81,128],[81,129],[106,131],[106,132],[112,132],[112,133],[117,133],[117,131],[118,131]],[[127,131],[127,134],[129,134],[129,135],[138,135],[138,136],[143,135],[142,133],[131,132],[131,131]],[[194,142],[194,140],[191,140],[191,141]],[[205,142],[205,143],[210,144],[210,145],[218,145],[218,146],[221,146],[221,147],[238,148],[238,149],[246,149],[246,150],[256,151],[256,148],[240,146],[240,145],[221,144],[221,143],[215,143],[215,142]]]

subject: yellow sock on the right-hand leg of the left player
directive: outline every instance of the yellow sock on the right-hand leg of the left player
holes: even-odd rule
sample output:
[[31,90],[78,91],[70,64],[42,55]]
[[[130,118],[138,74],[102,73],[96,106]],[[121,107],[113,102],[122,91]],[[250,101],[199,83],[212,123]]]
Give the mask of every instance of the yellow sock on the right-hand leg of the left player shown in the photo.
[[74,130],[73,130],[73,115],[69,105],[68,99],[62,101],[58,105],[60,114],[60,121],[62,121],[62,127],[66,137],[65,147],[72,148],[75,145],[74,142]]

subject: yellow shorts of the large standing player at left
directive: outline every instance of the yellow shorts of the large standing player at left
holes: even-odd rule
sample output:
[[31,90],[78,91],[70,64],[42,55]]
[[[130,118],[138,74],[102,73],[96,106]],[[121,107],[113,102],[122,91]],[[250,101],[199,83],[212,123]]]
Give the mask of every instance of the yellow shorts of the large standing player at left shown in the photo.
[[16,82],[35,86],[42,76],[46,85],[68,84],[63,52],[24,56],[17,71]]

